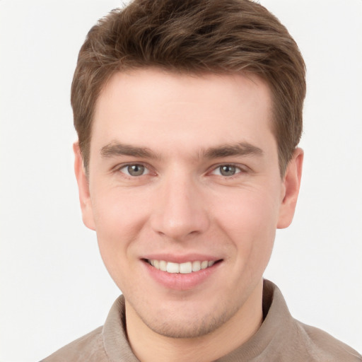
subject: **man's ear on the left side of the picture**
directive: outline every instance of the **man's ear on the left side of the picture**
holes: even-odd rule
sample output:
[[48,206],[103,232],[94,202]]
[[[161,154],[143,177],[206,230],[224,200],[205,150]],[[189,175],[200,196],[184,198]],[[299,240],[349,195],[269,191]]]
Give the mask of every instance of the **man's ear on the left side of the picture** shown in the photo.
[[78,183],[79,201],[81,202],[83,223],[87,228],[95,230],[91,194],[89,192],[89,182],[86,170],[84,169],[83,158],[81,156],[81,150],[79,149],[78,142],[73,144],[73,151],[74,172],[76,173],[76,182]]

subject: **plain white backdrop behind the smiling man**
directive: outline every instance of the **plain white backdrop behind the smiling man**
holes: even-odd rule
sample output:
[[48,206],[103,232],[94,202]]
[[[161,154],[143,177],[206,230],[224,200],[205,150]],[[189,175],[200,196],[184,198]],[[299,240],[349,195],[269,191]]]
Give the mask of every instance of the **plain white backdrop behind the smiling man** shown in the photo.
[[[308,67],[293,224],[265,276],[294,317],[362,351],[362,1],[261,0]],[[119,295],[81,222],[69,102],[78,49],[117,0],[0,0],[0,361],[103,325]]]

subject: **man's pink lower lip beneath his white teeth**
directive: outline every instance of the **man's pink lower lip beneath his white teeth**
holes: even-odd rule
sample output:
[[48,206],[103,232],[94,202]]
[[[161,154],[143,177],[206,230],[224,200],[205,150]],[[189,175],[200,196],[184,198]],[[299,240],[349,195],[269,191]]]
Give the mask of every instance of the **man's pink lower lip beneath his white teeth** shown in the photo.
[[195,288],[199,284],[204,283],[206,279],[209,279],[211,274],[213,274],[216,269],[218,269],[221,262],[217,262],[212,267],[207,267],[206,269],[201,269],[199,271],[193,271],[189,274],[182,273],[168,273],[167,271],[162,271],[152,267],[148,262],[143,261],[148,274],[161,284],[165,288],[187,291],[189,289]]

